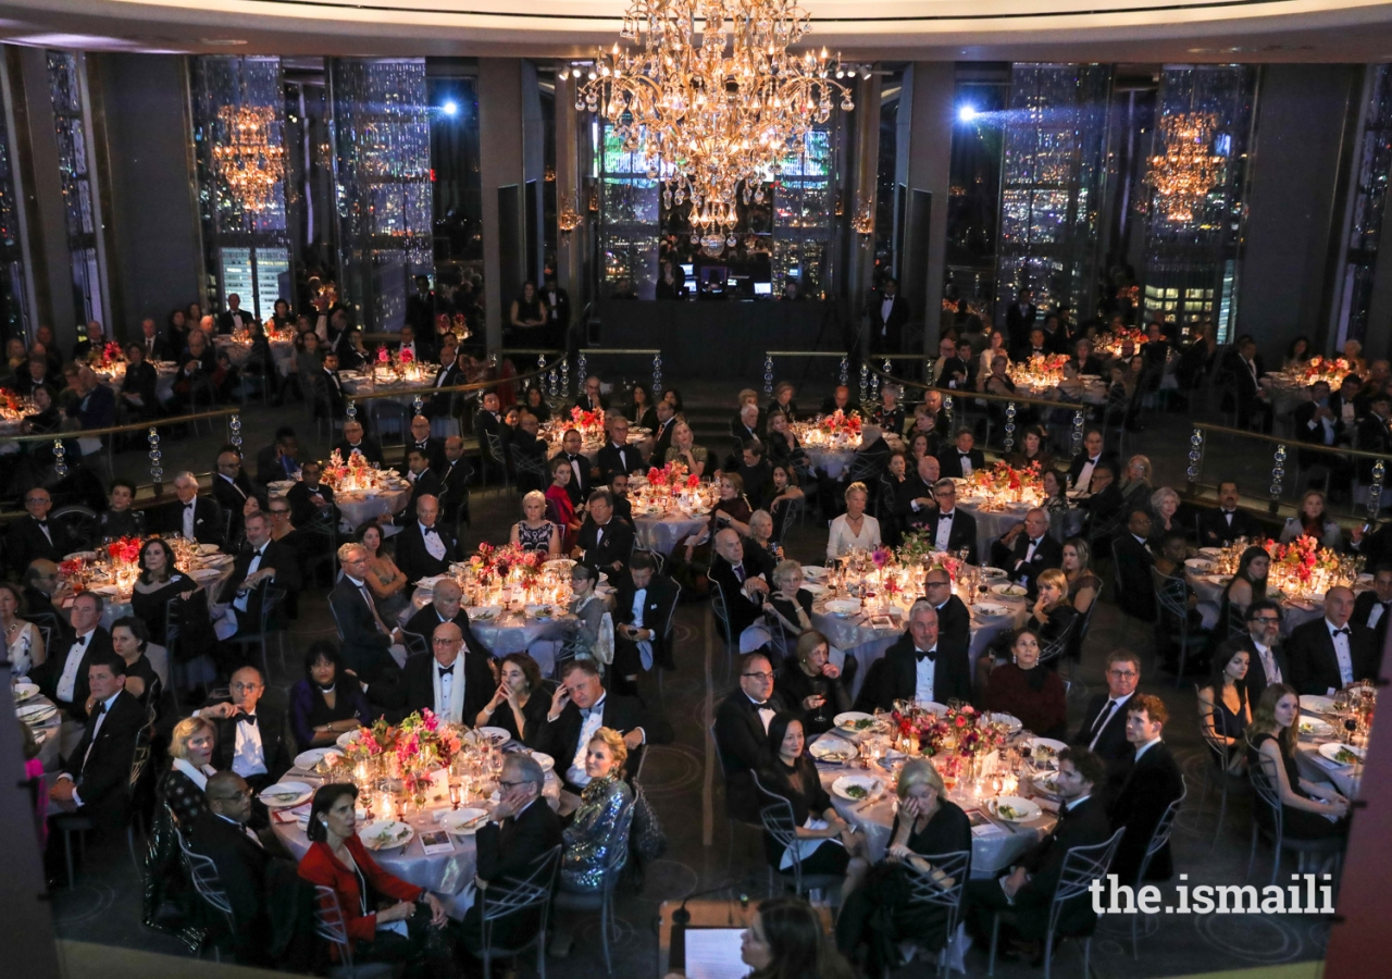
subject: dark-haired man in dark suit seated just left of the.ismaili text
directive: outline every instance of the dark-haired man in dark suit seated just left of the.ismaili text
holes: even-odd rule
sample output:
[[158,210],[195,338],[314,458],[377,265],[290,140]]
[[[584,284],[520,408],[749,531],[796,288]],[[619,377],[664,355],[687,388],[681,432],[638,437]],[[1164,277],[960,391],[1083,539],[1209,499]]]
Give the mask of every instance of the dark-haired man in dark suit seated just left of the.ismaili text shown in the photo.
[[[1107,806],[1100,798],[1107,766],[1086,748],[1066,748],[1058,756],[1058,795],[1062,799],[1054,830],[1026,852],[1009,873],[966,883],[967,929],[987,941],[991,922],[1001,915],[1005,939],[1016,953],[1034,955],[1048,932],[1050,905],[1063,873],[1063,862],[1076,847],[1096,847],[1111,836]],[[1062,934],[1090,932],[1097,914],[1090,894],[1063,904],[1057,927]],[[1023,944],[1018,944],[1023,943]]]

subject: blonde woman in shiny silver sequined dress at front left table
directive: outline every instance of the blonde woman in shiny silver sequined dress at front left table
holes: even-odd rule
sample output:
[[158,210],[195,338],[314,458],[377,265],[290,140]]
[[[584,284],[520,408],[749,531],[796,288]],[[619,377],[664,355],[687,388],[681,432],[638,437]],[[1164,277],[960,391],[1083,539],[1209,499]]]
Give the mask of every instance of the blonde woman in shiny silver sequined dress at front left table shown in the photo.
[[[592,894],[604,884],[614,848],[626,845],[628,834],[619,819],[633,802],[633,790],[624,781],[628,745],[624,735],[601,727],[585,745],[585,774],[580,806],[565,827],[561,877],[557,887],[571,894]],[[554,947],[554,946],[553,946]]]

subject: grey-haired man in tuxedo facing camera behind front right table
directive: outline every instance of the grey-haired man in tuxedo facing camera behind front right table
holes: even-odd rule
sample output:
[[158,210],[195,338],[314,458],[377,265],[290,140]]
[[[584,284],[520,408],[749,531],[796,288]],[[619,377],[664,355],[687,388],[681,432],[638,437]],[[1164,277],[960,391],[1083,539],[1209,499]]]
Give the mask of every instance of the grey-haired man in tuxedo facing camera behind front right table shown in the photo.
[[873,707],[892,710],[895,700],[972,700],[967,646],[940,639],[937,609],[926,599],[909,609],[909,631],[885,650],[877,673],[866,675],[860,691],[862,703]]

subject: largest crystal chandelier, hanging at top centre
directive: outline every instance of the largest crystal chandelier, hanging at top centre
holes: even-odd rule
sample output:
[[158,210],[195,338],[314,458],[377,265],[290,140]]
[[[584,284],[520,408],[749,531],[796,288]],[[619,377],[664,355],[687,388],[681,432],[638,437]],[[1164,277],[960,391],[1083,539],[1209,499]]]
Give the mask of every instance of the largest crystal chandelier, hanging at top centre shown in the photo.
[[832,96],[855,109],[837,81],[853,65],[788,52],[810,19],[795,0],[632,0],[619,32],[632,43],[561,78],[576,78],[576,110],[601,113],[625,153],[642,150],[667,209],[690,203],[693,244],[734,245],[739,202],[761,203],[763,181],[805,155]]

